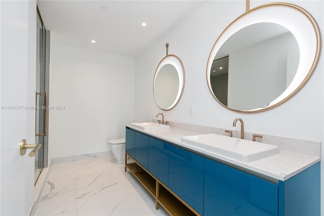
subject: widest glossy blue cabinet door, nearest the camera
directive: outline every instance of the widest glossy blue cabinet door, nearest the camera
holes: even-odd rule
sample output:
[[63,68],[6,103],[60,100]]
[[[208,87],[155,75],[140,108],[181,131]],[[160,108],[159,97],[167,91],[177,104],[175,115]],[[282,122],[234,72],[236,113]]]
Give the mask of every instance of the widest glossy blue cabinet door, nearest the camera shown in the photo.
[[278,215],[278,186],[205,158],[204,215]]

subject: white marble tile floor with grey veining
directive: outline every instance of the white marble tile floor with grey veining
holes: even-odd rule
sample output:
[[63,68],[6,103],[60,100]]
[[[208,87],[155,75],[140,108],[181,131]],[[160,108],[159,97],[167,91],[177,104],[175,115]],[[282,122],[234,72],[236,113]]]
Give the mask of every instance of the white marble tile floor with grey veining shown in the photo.
[[34,215],[169,215],[113,156],[52,164]]

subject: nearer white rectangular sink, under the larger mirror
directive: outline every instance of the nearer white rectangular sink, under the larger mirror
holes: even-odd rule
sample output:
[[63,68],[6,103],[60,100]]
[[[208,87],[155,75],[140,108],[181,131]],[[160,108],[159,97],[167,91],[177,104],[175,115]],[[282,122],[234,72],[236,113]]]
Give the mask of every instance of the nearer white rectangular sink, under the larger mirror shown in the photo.
[[212,133],[183,136],[181,142],[204,152],[215,153],[245,163],[279,153],[277,146]]

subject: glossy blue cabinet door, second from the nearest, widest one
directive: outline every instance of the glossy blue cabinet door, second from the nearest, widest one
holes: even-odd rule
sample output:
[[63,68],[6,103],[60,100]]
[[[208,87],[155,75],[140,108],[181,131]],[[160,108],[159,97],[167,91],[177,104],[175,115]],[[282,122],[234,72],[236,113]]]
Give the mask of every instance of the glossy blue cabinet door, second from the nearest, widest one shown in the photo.
[[203,214],[204,158],[170,145],[169,188]]

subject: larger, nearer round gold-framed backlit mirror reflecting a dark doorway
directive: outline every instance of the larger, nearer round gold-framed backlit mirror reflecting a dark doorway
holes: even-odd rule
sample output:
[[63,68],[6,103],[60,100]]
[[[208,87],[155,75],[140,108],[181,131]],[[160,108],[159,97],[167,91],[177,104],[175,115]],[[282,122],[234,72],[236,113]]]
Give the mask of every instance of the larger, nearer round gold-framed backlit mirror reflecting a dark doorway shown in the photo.
[[307,82],[319,53],[320,33],[307,11],[286,3],[263,5],[222,32],[208,60],[208,86],[232,111],[265,111]]

